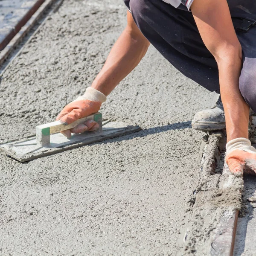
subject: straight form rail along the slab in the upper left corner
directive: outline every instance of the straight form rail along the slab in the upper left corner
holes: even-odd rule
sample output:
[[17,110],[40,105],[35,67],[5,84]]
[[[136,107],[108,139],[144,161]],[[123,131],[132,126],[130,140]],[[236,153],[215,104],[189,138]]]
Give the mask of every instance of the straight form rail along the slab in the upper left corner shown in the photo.
[[[20,43],[23,37],[32,29],[36,21],[43,15],[44,11],[52,5],[56,0],[38,0],[30,11],[20,20],[17,25],[19,29],[15,29],[15,34],[10,37],[6,47],[0,52],[0,65],[8,58],[13,49]],[[26,22],[25,22],[26,21]],[[9,35],[7,35],[9,37]],[[1,46],[2,47],[2,46]]]

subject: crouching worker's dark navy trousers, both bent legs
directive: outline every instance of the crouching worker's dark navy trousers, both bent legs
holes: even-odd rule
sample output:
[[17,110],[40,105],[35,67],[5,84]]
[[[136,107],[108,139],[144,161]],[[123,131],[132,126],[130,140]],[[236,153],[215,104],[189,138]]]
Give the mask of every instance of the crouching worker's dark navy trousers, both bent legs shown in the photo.
[[[140,31],[183,75],[210,91],[219,92],[218,67],[205,47],[191,12],[176,9],[162,0],[125,0]],[[255,12],[256,13],[256,12]],[[243,10],[232,13],[235,27],[242,19],[256,19]],[[256,26],[236,30],[243,51],[239,89],[256,112]]]

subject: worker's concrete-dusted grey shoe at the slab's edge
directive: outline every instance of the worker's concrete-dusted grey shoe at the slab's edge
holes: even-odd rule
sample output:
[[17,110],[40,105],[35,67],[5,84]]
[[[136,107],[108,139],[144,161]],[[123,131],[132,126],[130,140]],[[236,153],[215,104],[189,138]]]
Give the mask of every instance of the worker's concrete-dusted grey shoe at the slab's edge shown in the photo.
[[199,131],[216,131],[226,127],[221,96],[219,94],[217,96],[218,100],[214,107],[195,114],[192,120],[192,128]]

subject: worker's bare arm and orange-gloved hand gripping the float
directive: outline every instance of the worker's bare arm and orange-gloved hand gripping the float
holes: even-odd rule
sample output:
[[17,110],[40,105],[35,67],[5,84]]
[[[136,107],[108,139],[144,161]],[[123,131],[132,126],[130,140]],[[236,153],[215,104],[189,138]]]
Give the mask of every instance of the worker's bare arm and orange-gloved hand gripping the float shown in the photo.
[[[106,100],[105,96],[108,96],[116,85],[139,64],[147,52],[149,44],[134,23],[131,13],[127,11],[127,26],[111,49],[102,70],[96,76],[91,87],[87,88],[83,96],[68,104],[56,120],[70,124],[99,111],[102,102]],[[70,132],[81,133],[97,128],[96,122],[87,121],[76,128],[63,131],[62,134],[70,137]]]

